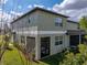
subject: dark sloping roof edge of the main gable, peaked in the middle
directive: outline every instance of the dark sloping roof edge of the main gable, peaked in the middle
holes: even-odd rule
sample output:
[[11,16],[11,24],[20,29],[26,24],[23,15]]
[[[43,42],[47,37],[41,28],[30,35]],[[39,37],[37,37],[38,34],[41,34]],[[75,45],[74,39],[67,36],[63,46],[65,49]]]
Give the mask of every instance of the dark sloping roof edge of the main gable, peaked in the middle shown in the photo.
[[57,12],[54,12],[54,11],[50,11],[50,10],[46,10],[46,9],[43,9],[43,8],[34,8],[32,9],[31,11],[24,13],[22,17],[15,19],[14,21],[12,21],[11,23],[14,23],[15,21],[22,19],[23,17],[28,15],[28,14],[31,14],[32,12],[35,12],[36,10],[41,10],[41,11],[44,11],[44,12],[48,12],[51,14],[56,14],[56,15],[61,15],[61,17],[64,17],[64,18],[68,18],[67,15],[64,15],[64,14],[61,14],[61,13],[57,13]]

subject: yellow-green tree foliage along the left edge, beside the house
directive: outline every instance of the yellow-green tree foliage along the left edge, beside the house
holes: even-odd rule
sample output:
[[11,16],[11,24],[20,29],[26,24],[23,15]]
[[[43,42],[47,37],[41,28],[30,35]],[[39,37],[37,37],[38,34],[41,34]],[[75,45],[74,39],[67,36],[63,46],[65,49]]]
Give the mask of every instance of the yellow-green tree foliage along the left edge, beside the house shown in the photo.
[[9,50],[10,43],[12,43],[11,30],[8,28],[8,25],[6,25],[4,29],[1,29],[1,32],[0,32],[0,62],[4,52]]

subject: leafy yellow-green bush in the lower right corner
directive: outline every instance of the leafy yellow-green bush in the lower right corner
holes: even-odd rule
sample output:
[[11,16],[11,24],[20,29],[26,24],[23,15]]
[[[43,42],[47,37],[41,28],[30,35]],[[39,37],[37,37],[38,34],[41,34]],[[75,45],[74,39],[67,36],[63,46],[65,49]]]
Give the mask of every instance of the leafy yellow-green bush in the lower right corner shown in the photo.
[[78,45],[79,53],[74,54],[74,52],[68,52],[65,55],[65,59],[59,63],[59,65],[87,65],[87,45]]

